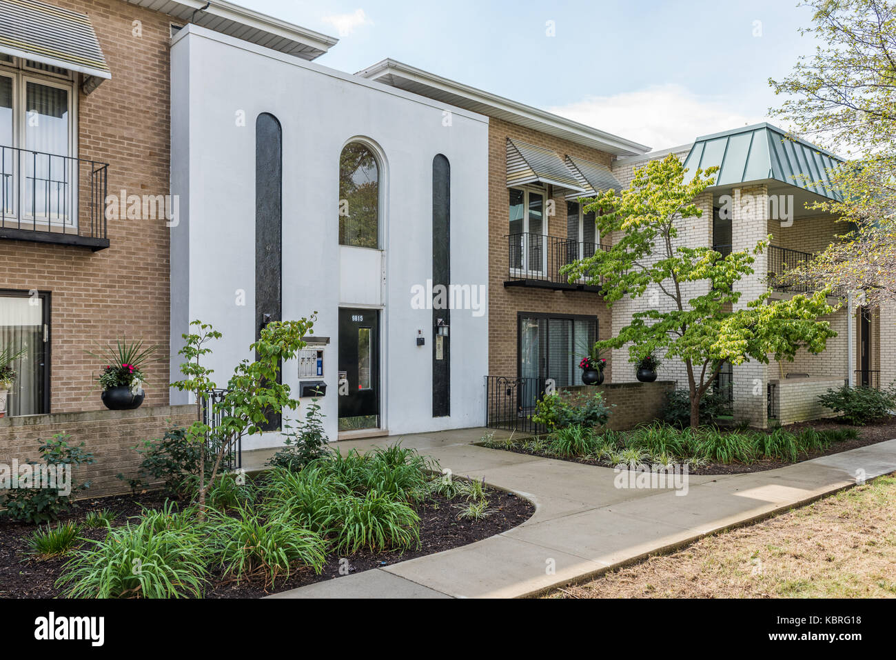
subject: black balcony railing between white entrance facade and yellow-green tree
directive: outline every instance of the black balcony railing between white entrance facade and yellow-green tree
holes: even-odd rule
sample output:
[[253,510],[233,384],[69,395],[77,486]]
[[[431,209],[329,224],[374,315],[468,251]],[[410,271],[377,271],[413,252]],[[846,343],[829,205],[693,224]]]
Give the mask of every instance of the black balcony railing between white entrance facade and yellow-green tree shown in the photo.
[[507,239],[507,281],[504,286],[541,286],[549,289],[579,289],[596,291],[599,287],[580,282],[569,282],[560,273],[564,265],[594,256],[610,247],[575,239],[564,239],[546,234],[509,234]]

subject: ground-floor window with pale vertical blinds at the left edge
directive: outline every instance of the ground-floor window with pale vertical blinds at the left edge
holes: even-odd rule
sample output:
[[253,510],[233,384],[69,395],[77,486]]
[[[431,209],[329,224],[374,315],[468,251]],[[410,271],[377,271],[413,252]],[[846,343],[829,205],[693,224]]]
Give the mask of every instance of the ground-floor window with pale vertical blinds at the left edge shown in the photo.
[[16,356],[6,414],[49,412],[48,293],[0,290],[0,350]]

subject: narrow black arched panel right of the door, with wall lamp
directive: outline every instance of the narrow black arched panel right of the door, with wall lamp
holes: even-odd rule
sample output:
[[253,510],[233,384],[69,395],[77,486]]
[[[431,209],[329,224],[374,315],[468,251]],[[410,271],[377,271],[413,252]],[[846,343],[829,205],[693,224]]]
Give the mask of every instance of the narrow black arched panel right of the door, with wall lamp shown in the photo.
[[[451,282],[451,164],[441,153],[433,159],[433,417],[451,414],[451,335],[438,326],[451,326],[451,310],[437,308],[436,286]],[[442,296],[441,300],[447,300]],[[439,306],[442,307],[442,306]]]

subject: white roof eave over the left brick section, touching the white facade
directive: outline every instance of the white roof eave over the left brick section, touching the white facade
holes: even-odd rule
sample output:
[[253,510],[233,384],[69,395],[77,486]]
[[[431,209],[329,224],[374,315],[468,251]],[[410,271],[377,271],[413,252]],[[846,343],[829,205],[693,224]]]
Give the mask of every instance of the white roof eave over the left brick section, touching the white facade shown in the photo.
[[[307,60],[322,56],[339,42],[335,37],[280,21],[267,14],[228,3],[226,0],[211,0],[211,3],[206,3],[205,0],[125,0],[125,2]],[[206,7],[206,4],[209,6]]]

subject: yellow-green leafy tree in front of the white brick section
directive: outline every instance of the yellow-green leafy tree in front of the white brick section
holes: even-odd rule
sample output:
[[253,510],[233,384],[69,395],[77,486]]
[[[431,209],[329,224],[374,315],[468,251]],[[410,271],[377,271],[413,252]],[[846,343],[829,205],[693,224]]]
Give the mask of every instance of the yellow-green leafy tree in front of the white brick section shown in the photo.
[[[694,199],[713,181],[716,168],[698,169],[692,177],[674,155],[637,169],[621,195],[609,190],[585,206],[594,211],[601,236],[615,236],[612,247],[564,267],[573,282],[584,278],[600,285],[612,306],[623,297],[642,298],[659,291],[671,304],[650,304],[634,312],[616,337],[595,344],[597,350],[630,344],[632,361],[647,355],[681,360],[687,371],[691,426],[700,423],[700,401],[728,361],[793,360],[800,348],[822,352],[835,336],[826,321],[833,311],[824,292],[812,297],[770,300],[762,293],[737,308],[737,282],[754,274],[754,249],[723,256],[711,247],[688,247],[678,239],[681,221],[701,215]],[[697,291],[693,295],[689,291]]]

